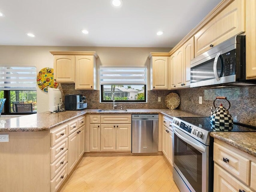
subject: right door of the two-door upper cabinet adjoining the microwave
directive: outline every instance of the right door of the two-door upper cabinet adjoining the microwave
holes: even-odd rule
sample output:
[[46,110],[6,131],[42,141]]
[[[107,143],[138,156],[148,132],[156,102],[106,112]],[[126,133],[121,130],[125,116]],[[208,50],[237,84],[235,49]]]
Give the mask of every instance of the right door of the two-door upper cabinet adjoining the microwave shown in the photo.
[[183,83],[184,86],[190,86],[190,61],[195,57],[194,37],[183,45]]

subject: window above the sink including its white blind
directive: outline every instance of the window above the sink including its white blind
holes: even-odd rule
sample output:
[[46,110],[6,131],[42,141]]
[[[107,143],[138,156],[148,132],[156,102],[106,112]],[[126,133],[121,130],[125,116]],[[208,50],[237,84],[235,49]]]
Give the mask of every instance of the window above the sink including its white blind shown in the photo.
[[146,68],[100,68],[101,102],[146,102]]

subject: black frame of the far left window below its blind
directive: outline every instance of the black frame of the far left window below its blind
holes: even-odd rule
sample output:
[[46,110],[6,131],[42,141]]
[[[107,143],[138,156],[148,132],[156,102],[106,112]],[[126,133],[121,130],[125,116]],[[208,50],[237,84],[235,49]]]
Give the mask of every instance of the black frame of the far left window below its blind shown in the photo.
[[[4,112],[1,113],[1,115],[30,115],[30,114],[36,114],[36,112],[11,112],[11,102],[10,102],[10,92],[13,90],[1,90],[4,91],[4,98],[6,99],[4,103]],[[23,90],[18,90],[23,91]],[[26,90],[27,91],[27,90]],[[36,91],[36,90],[32,90]]]

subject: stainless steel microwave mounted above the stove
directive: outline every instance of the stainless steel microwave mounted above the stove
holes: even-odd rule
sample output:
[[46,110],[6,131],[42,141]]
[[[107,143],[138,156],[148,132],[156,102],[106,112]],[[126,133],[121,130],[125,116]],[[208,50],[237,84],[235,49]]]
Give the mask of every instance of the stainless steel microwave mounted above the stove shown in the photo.
[[190,87],[255,83],[255,80],[246,81],[245,36],[242,35],[212,47],[190,64]]

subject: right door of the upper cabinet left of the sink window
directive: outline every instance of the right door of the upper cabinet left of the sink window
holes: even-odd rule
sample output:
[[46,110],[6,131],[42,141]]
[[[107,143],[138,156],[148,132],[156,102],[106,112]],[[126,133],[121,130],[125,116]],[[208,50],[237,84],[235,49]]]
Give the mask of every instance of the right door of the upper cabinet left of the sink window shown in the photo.
[[76,56],[76,84],[75,89],[94,88],[94,56]]

